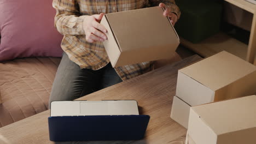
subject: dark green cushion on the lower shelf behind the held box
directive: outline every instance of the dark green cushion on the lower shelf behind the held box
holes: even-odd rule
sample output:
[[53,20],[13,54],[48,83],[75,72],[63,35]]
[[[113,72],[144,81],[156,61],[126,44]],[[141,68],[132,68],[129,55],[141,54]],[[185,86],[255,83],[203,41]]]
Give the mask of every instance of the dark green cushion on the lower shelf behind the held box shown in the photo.
[[219,32],[222,4],[216,1],[176,1],[182,15],[176,23],[180,37],[199,43]]

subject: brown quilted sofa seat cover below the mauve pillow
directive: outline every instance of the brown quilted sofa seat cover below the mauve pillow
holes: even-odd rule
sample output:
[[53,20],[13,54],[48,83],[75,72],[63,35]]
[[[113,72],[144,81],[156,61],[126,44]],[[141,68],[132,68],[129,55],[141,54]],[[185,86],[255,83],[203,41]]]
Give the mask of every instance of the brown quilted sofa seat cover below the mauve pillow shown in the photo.
[[0,127],[48,109],[61,58],[21,58],[0,63]]

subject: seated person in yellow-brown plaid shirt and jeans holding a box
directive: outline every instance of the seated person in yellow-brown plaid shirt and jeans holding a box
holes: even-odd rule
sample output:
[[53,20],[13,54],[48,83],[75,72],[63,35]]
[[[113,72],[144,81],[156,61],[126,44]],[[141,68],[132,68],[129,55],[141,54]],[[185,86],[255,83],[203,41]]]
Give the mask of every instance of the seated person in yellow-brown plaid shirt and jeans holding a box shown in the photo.
[[100,21],[104,13],[157,5],[166,9],[163,14],[174,25],[181,14],[174,0],[54,0],[55,27],[64,35],[64,52],[49,103],[77,99],[152,70],[152,62],[112,68],[102,44],[107,30]]

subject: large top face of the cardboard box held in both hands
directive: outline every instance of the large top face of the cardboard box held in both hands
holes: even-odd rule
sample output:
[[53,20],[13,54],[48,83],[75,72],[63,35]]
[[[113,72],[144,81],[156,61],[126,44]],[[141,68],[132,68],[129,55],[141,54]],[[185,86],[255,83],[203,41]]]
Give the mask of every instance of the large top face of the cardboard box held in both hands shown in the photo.
[[106,14],[120,51],[166,45],[170,45],[171,49],[172,44],[179,43],[174,28],[162,13],[162,8],[152,7]]

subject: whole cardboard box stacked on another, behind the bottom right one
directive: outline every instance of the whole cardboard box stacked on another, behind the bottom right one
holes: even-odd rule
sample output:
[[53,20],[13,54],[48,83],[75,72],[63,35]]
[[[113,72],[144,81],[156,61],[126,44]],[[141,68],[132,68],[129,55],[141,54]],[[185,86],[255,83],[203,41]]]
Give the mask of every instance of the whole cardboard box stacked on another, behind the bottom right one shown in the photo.
[[176,95],[191,106],[256,93],[256,66],[220,52],[178,71]]

